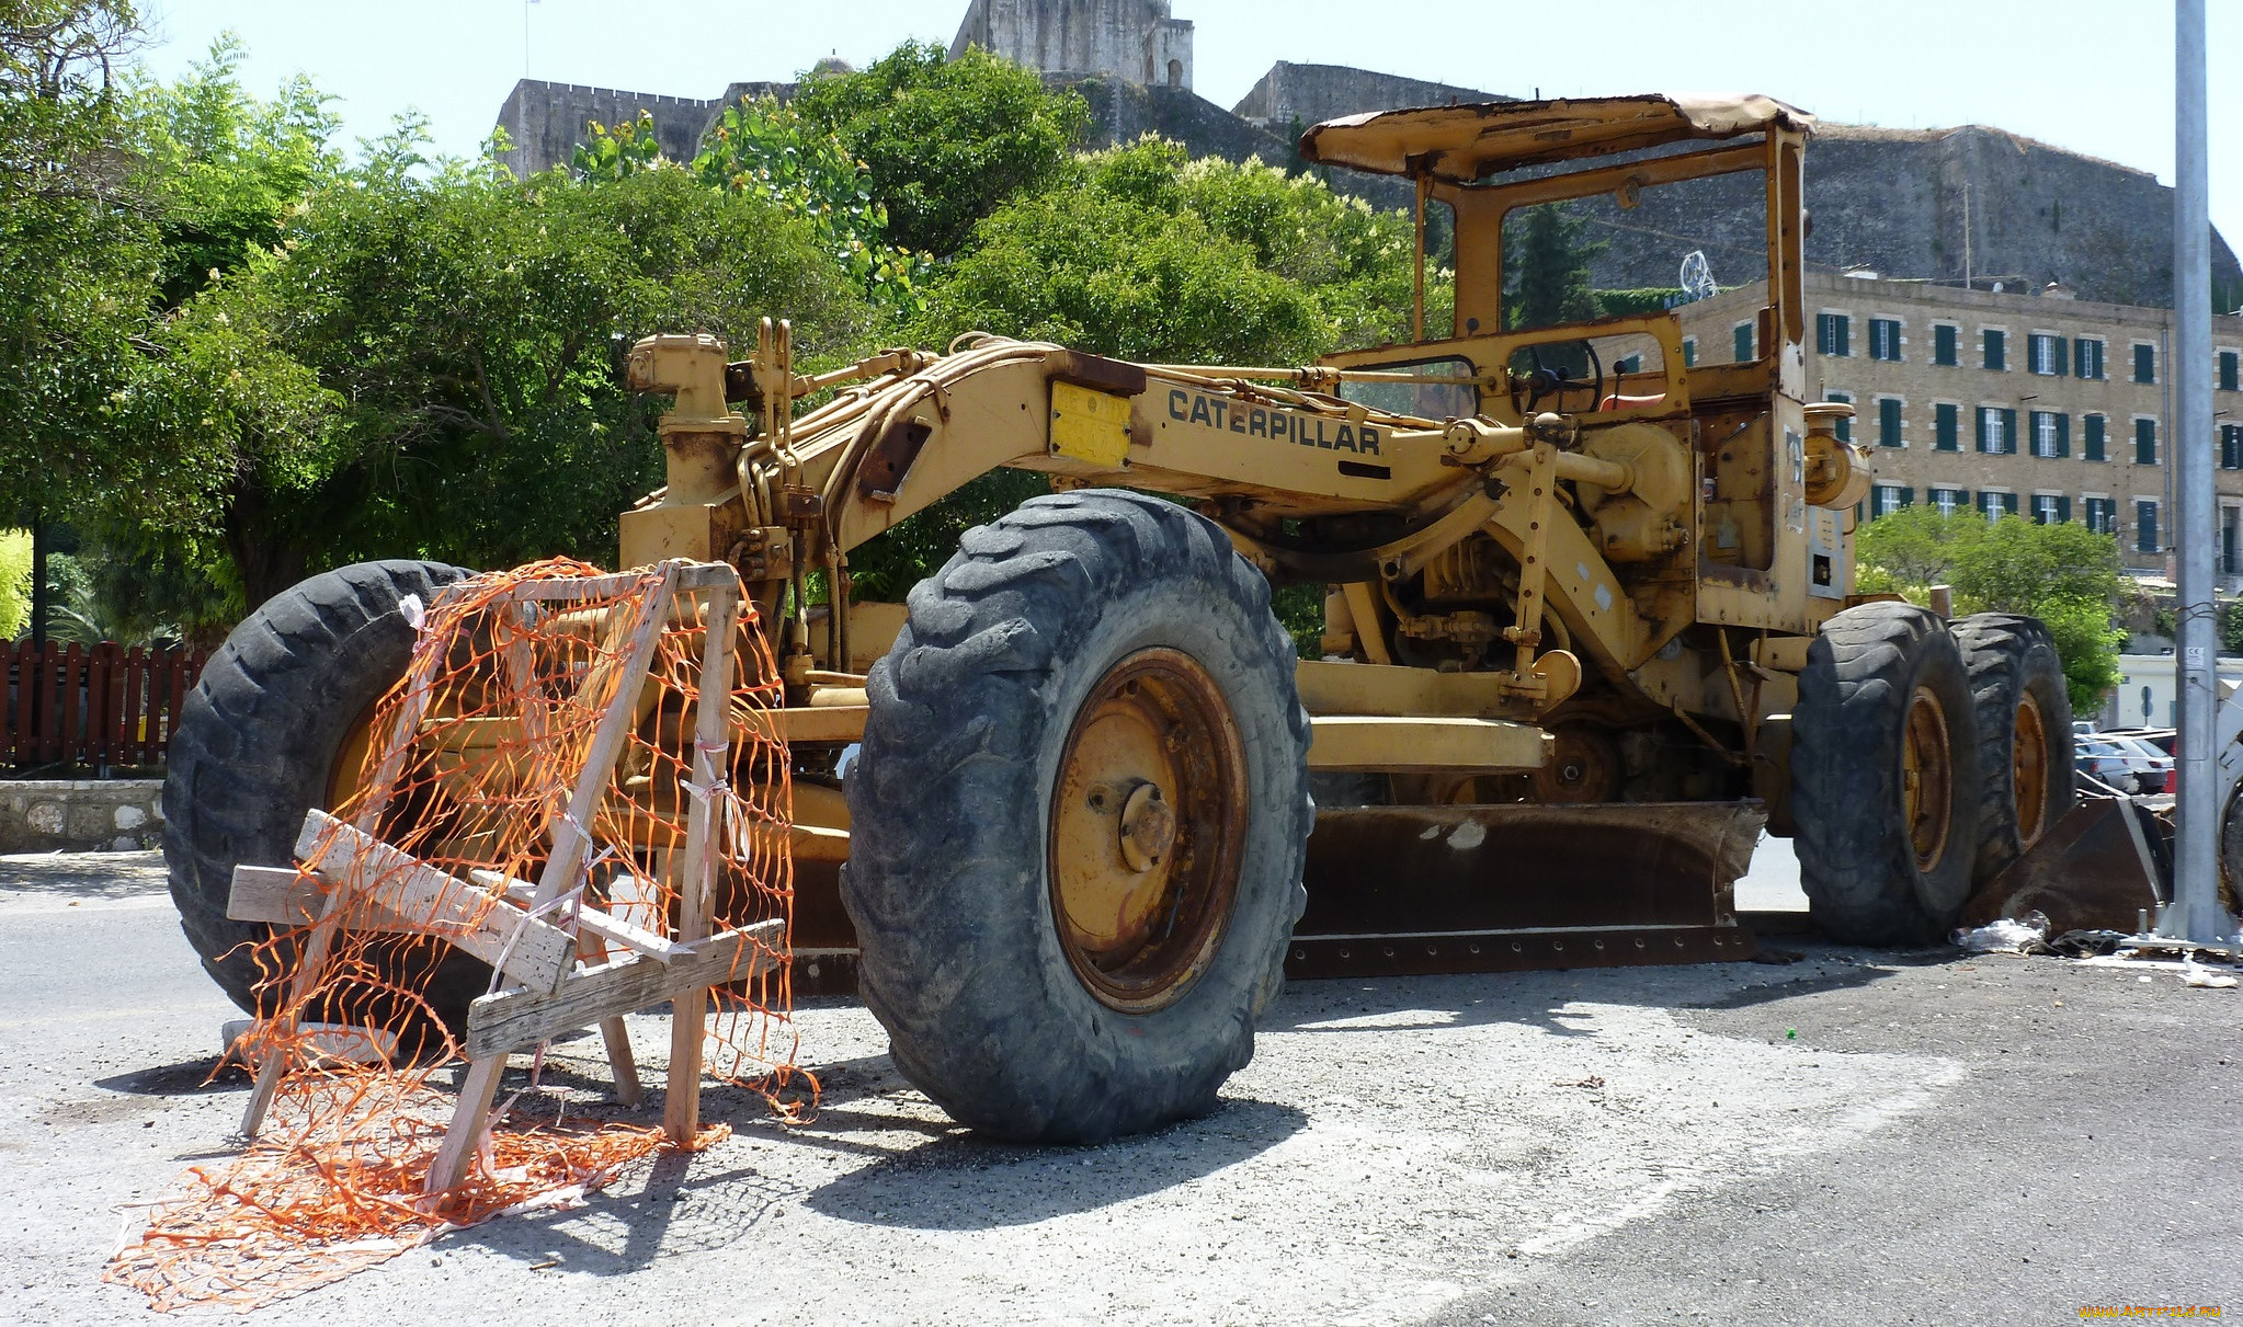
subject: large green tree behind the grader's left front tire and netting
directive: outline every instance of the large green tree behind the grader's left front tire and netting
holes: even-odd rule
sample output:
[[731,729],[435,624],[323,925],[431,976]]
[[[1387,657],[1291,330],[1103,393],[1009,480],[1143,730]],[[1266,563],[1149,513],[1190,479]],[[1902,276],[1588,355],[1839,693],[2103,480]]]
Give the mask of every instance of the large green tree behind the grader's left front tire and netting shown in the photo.
[[516,184],[422,161],[406,126],[166,323],[135,424],[222,448],[222,482],[200,520],[141,531],[236,612],[372,556],[612,560],[615,513],[662,475],[617,347],[740,341],[769,309],[805,356],[870,327],[812,226],[760,197],[684,170]]

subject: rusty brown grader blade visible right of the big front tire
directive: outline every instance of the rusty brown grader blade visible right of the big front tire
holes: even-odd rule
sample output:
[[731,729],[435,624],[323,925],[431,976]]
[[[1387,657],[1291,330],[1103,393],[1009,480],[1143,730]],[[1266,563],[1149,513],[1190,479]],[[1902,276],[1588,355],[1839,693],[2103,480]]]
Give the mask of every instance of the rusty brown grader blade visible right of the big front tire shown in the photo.
[[1308,841],[1290,977],[1752,957],[1761,802],[1339,807]]

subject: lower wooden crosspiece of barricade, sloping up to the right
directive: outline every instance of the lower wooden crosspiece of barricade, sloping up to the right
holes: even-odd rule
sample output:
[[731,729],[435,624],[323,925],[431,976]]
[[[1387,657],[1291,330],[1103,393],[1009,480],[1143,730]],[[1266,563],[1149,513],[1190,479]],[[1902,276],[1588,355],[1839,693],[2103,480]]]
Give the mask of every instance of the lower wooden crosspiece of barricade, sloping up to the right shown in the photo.
[[579,968],[561,991],[500,991],[467,1006],[467,1054],[502,1056],[534,1047],[565,1031],[590,1027],[610,1013],[630,1013],[659,1004],[684,991],[707,991],[740,982],[774,964],[772,953],[785,932],[783,919],[758,921],[709,939],[680,946],[682,953],[657,964],[646,955],[624,955],[597,968]]

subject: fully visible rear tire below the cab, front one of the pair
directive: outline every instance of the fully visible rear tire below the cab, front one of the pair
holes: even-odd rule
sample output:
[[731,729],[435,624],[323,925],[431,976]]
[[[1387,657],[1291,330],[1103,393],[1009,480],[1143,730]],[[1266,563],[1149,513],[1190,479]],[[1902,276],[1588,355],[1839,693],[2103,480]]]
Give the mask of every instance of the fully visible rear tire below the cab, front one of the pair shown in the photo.
[[1799,883],[1844,944],[1947,935],[1978,859],[1978,735],[1938,616],[1864,603],[1824,623],[1792,713]]

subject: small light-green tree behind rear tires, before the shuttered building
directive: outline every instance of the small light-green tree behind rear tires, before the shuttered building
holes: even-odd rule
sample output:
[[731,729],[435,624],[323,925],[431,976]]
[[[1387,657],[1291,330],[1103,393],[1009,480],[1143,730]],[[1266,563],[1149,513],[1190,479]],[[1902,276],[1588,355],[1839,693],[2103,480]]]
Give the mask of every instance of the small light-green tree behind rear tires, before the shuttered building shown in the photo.
[[2032,525],[2014,516],[1940,516],[1904,507],[1862,527],[1859,587],[1924,603],[1951,585],[1956,612],[2023,612],[2041,619],[2064,659],[2073,708],[2093,711],[2117,686],[2111,619],[2124,592],[2117,540],[2084,525]]

